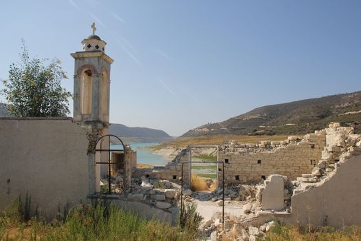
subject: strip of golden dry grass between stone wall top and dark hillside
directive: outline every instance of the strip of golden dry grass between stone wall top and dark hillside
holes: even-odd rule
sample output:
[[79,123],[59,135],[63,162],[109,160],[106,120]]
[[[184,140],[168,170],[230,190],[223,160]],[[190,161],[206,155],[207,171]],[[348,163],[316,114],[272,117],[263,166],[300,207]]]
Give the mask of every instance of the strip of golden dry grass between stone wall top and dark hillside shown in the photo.
[[168,143],[157,145],[154,149],[165,147],[186,148],[188,145],[220,145],[224,140],[236,140],[240,143],[259,143],[261,140],[285,140],[287,136],[241,136],[241,135],[219,135],[199,137],[179,137]]

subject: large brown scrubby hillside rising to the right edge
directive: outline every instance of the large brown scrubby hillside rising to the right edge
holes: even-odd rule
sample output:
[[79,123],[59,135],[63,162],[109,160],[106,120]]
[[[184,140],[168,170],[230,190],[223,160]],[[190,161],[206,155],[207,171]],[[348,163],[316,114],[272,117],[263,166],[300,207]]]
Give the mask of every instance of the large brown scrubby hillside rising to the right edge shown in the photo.
[[227,121],[191,129],[183,136],[305,134],[330,122],[351,125],[360,133],[361,91],[258,107]]

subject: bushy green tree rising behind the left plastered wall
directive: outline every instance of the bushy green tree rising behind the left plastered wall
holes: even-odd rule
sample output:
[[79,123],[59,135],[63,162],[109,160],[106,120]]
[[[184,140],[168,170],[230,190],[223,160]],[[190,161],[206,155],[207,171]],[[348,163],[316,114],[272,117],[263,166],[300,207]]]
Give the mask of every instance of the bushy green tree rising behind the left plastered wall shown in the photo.
[[0,91],[8,101],[8,113],[19,117],[66,116],[69,114],[68,98],[72,96],[61,87],[67,78],[61,61],[31,58],[24,41],[21,63],[12,63],[8,80]]

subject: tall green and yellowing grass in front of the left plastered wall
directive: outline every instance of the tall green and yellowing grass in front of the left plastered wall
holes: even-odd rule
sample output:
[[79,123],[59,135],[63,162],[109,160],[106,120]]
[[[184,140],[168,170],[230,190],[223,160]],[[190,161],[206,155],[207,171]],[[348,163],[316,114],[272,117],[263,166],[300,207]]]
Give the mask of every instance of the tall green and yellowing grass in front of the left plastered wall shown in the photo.
[[0,240],[197,240],[195,229],[145,220],[115,205],[78,205],[64,220],[25,222],[14,209],[0,215]]

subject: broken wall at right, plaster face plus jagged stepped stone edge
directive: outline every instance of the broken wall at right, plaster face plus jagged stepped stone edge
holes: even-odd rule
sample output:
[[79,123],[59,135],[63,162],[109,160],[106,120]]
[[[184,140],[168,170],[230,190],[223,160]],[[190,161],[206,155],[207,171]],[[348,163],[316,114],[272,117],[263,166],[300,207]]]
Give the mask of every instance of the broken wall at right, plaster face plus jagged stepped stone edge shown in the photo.
[[[361,135],[352,127],[331,123],[327,146],[311,172],[292,181],[291,209],[287,214],[260,213],[259,222],[278,219],[303,227],[361,225]],[[267,187],[267,183],[265,183]],[[281,190],[282,191],[282,190]],[[267,193],[262,193],[262,206]],[[282,198],[279,194],[278,198]],[[267,200],[266,200],[267,201]],[[286,207],[286,206],[285,206]]]

